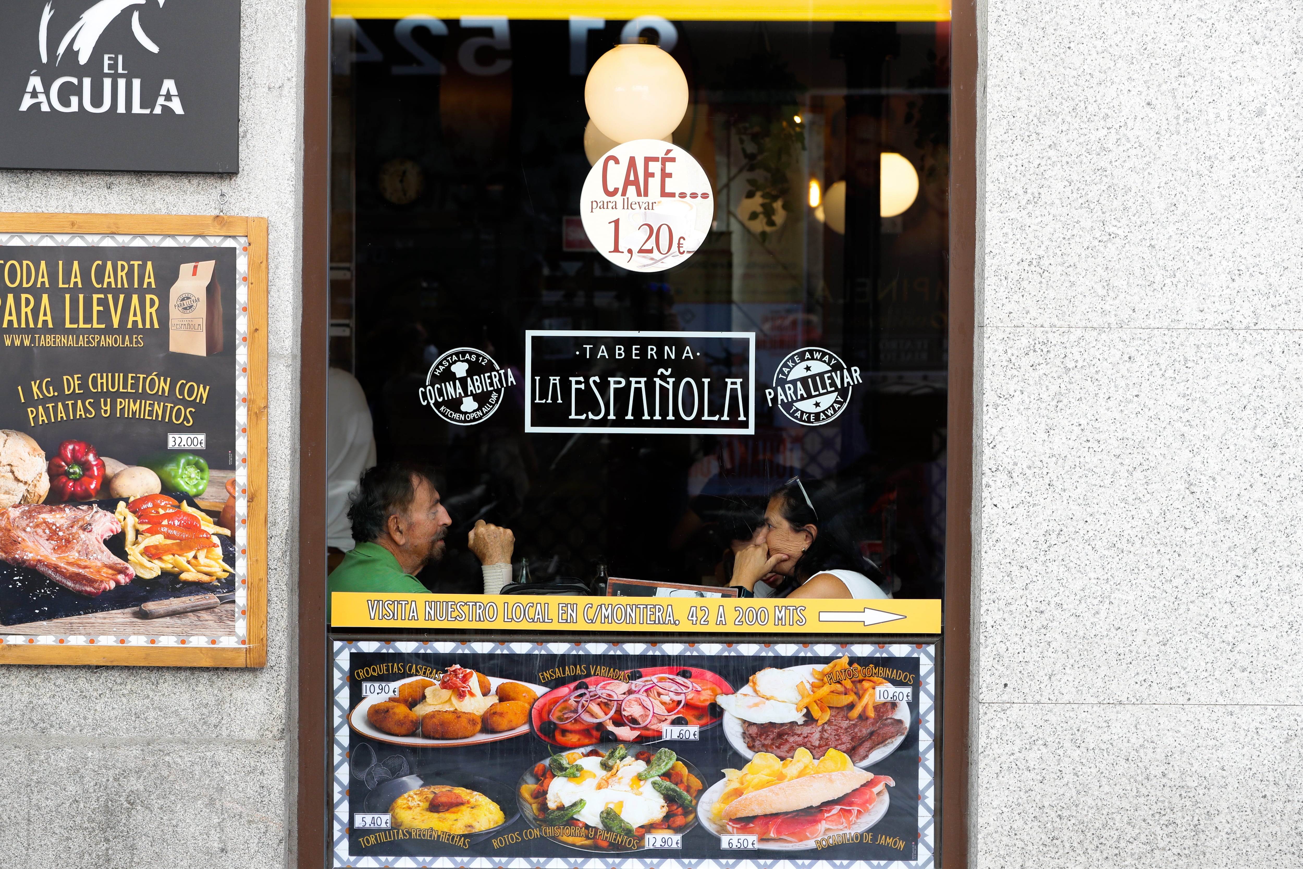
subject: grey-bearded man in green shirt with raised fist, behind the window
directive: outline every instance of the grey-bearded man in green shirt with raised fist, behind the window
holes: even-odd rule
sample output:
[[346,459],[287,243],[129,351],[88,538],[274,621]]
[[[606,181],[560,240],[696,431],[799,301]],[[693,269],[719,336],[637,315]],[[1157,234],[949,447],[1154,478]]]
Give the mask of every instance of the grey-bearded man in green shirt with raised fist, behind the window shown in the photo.
[[[326,618],[332,591],[392,591],[427,594],[416,573],[443,558],[443,538],[452,525],[429,470],[407,463],[377,465],[362,474],[349,498],[348,517],[357,546],[344,556],[326,582]],[[476,522],[470,551],[483,564],[486,593],[490,575],[511,578],[511,529]]]

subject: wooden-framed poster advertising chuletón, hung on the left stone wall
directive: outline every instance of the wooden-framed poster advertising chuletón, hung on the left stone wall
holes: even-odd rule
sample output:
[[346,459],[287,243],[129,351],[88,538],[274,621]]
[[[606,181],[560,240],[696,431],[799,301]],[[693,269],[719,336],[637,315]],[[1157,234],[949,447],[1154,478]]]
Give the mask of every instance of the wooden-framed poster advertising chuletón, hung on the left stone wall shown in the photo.
[[267,659],[267,220],[0,214],[0,663]]

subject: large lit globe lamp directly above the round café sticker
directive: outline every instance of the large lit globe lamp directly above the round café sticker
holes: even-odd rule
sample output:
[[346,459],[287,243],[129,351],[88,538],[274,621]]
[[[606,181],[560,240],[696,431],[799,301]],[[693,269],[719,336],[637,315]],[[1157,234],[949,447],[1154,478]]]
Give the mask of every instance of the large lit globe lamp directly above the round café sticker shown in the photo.
[[688,79],[657,46],[616,46],[593,64],[584,104],[598,129],[616,143],[663,139],[688,111]]

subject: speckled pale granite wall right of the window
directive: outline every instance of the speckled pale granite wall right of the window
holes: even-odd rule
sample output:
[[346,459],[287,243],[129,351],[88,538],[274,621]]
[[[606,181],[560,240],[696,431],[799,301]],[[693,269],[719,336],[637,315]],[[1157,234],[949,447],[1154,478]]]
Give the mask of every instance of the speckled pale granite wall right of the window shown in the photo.
[[1300,23],[980,4],[972,865],[1303,864]]

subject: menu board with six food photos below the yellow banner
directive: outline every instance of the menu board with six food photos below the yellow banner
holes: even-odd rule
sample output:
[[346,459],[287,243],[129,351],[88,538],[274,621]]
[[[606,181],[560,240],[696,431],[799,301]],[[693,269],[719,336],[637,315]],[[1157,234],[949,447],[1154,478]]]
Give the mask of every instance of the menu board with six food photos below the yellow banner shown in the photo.
[[334,657],[335,866],[937,861],[932,645],[336,640]]

